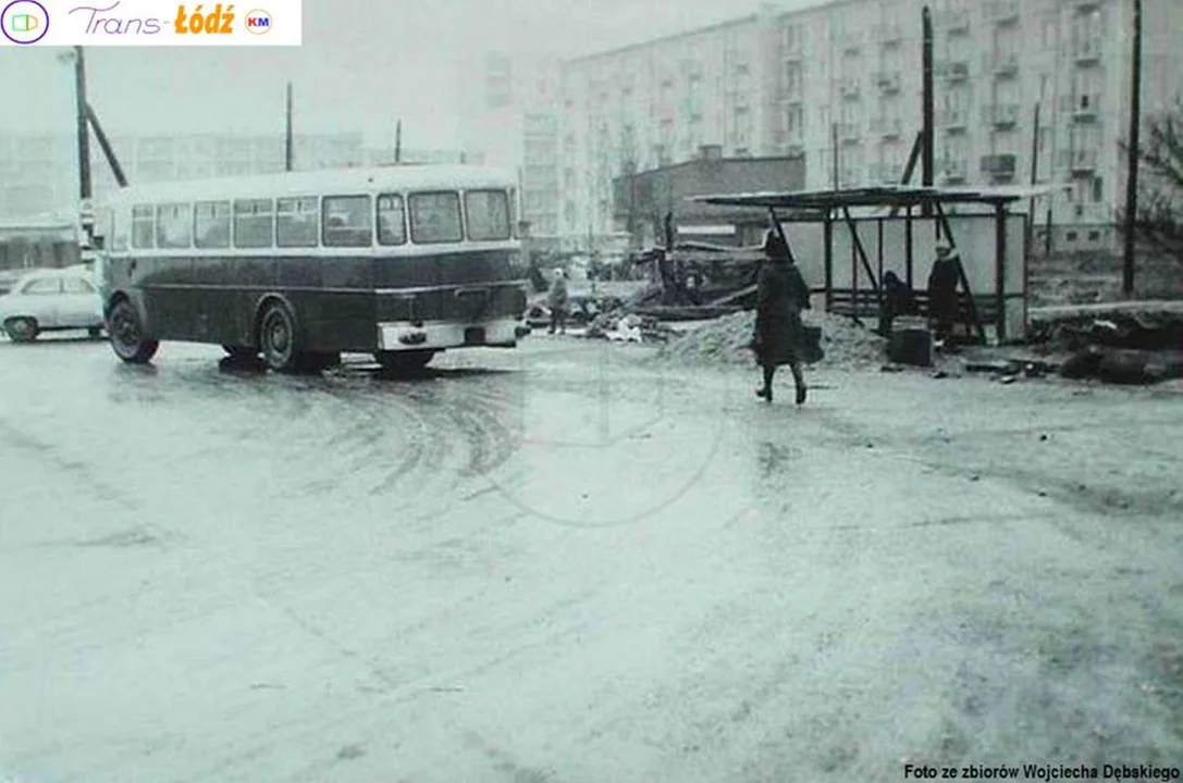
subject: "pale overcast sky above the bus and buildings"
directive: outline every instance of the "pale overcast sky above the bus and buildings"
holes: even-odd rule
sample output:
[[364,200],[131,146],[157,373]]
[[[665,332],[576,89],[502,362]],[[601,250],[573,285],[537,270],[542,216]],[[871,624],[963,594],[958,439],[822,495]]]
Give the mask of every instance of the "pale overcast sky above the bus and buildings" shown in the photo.
[[[247,48],[89,48],[91,103],[109,132],[282,132],[284,80],[297,130],[393,136],[407,148],[455,148],[458,63],[486,50],[562,56],[613,48],[752,13],[758,0],[304,0],[304,45]],[[782,0],[778,7],[802,5]],[[63,50],[0,48],[0,130],[72,128]],[[14,101],[13,90],[20,90]]]

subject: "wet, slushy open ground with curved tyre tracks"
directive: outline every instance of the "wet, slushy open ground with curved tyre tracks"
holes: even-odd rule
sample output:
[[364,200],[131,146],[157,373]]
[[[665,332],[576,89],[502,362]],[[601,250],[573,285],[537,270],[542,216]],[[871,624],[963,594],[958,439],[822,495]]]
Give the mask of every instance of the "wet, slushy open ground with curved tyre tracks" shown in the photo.
[[1181,387],[0,342],[0,781],[1183,759]]

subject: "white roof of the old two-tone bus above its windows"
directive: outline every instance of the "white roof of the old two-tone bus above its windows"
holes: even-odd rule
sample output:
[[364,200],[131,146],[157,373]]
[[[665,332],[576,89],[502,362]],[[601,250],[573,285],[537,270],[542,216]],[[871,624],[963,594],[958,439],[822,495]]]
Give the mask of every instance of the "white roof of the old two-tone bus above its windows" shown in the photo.
[[381,166],[373,168],[284,172],[208,180],[128,186],[106,196],[116,202],[213,201],[299,195],[349,195],[371,190],[506,188],[517,186],[511,169],[485,166]]

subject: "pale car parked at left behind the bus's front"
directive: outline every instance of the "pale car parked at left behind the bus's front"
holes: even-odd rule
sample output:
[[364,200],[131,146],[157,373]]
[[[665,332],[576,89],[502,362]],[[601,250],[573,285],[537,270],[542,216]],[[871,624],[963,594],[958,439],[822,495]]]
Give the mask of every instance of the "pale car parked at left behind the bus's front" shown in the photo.
[[13,342],[35,339],[43,331],[86,329],[98,337],[103,302],[89,274],[41,270],[20,278],[0,296],[0,324]]

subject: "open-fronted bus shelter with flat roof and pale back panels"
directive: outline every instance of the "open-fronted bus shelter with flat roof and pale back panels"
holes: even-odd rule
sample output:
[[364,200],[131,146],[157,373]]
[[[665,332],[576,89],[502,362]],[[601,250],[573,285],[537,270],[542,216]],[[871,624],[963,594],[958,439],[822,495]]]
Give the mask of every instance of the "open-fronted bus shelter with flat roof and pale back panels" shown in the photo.
[[767,209],[826,309],[854,318],[879,312],[888,272],[926,312],[936,248],[948,244],[962,260],[964,326],[978,342],[1001,343],[1027,331],[1028,218],[1013,208],[1046,190],[886,186],[691,198]]

